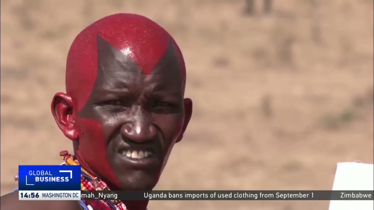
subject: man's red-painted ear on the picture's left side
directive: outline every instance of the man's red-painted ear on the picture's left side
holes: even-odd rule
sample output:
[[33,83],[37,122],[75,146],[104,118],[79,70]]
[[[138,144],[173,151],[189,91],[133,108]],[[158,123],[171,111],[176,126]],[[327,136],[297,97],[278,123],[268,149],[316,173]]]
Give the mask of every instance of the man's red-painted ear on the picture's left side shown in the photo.
[[75,126],[71,97],[65,93],[56,93],[50,108],[62,133],[70,140],[78,140],[79,134]]

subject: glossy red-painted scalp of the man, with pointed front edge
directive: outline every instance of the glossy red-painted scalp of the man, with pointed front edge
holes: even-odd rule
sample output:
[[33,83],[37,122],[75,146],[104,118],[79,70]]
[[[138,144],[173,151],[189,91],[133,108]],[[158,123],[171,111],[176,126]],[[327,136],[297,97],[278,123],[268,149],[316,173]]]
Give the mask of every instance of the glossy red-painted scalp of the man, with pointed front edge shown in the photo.
[[186,68],[182,53],[171,35],[155,22],[141,15],[119,13],[102,18],[85,28],[71,44],[66,63],[66,92],[79,112],[89,98],[97,74],[96,37],[128,55],[150,74],[169,42],[174,44],[184,91]]

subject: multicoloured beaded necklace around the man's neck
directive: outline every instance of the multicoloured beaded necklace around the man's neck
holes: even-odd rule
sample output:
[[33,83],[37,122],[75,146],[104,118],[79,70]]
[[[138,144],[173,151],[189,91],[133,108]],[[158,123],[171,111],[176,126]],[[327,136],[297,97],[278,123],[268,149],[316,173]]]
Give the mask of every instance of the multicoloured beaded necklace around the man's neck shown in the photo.
[[[62,160],[65,161],[65,165],[77,166],[79,165],[78,160],[74,155],[68,153],[68,151],[63,150],[60,152]],[[80,167],[80,189],[82,190],[110,190],[107,184],[99,179],[98,177],[92,175],[87,170]],[[80,201],[79,202],[83,209],[93,210],[93,209],[103,209],[103,210],[126,210],[126,206],[122,201]]]

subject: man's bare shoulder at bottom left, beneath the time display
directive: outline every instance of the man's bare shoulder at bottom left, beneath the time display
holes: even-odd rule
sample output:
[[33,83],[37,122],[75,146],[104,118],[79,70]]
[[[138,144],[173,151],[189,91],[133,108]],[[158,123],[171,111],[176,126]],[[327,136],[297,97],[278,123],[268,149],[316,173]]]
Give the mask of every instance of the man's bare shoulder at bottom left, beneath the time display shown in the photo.
[[56,209],[56,210],[81,210],[78,201],[20,201],[18,191],[0,197],[1,210],[17,209]]

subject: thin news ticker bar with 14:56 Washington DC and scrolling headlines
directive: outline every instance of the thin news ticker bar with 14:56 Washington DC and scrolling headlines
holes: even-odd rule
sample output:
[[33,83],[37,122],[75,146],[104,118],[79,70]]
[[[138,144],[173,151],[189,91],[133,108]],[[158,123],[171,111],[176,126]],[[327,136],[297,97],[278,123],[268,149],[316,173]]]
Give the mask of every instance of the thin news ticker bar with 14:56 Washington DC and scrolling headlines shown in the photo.
[[374,191],[19,191],[19,200],[374,200]]

